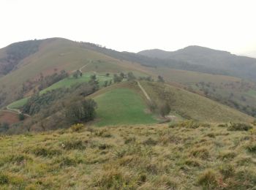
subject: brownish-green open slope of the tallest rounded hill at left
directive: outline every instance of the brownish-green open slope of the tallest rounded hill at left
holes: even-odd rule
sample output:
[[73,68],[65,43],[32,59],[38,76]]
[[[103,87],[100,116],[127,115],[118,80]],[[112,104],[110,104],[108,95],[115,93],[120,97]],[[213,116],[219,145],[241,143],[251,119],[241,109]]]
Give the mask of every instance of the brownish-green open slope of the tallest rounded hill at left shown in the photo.
[[7,96],[5,102],[19,96],[22,84],[27,80],[37,80],[39,74],[50,75],[53,72],[65,69],[67,72],[80,69],[83,72],[143,72],[140,64],[120,61],[102,53],[81,47],[80,43],[67,39],[45,39],[39,45],[39,50],[18,64],[18,69],[9,75],[0,78],[1,90],[12,94]]

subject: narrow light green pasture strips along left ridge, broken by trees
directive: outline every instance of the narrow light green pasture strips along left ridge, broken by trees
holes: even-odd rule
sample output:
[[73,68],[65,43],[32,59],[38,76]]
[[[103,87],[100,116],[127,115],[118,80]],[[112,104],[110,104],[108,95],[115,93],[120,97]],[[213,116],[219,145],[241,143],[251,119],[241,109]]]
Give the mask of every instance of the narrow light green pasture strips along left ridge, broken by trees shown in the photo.
[[[93,75],[93,73],[84,73],[82,77],[67,77],[64,78],[63,80],[60,80],[57,83],[54,83],[52,86],[49,86],[48,88],[45,88],[44,90],[40,91],[39,94],[44,94],[47,91],[52,91],[54,89],[58,89],[58,88],[69,88],[72,85],[75,85],[77,83],[84,83],[84,82],[88,82],[90,80],[91,75]],[[99,81],[99,86],[103,86],[105,80],[112,80],[112,76],[105,76],[105,75],[97,75],[97,80]],[[12,102],[12,104],[8,105],[9,108],[11,109],[15,109],[15,108],[20,108],[23,107],[24,104],[26,104],[26,102],[28,101],[29,97],[23,98],[23,99],[19,99],[16,102]]]

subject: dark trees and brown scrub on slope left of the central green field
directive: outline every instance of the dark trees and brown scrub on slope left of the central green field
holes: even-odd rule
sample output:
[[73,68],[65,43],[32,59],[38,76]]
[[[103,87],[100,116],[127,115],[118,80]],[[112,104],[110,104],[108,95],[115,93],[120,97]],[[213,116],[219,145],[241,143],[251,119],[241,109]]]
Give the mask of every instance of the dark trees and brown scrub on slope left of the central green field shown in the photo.
[[85,100],[99,86],[78,83],[70,88],[58,88],[45,94],[34,94],[22,107],[22,112],[31,115],[25,121],[14,123],[5,134],[19,134],[31,131],[67,128],[76,122],[91,121],[95,117],[96,103]]

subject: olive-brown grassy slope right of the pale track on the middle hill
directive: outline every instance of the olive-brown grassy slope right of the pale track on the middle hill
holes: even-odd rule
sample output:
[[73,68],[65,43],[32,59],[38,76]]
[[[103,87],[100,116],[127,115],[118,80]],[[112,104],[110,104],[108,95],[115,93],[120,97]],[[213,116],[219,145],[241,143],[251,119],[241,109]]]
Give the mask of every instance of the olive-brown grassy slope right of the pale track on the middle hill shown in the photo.
[[169,102],[171,110],[184,118],[208,122],[251,122],[253,120],[249,115],[181,88],[162,83],[143,82],[141,84],[154,101]]

